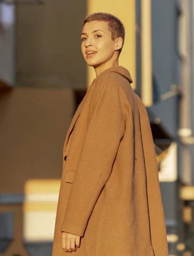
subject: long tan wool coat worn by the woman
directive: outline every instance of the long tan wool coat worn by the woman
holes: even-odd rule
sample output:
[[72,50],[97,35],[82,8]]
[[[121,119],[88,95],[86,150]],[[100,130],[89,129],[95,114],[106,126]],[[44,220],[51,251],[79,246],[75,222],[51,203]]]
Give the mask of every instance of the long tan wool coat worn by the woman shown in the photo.
[[167,256],[156,156],[147,112],[129,71],[111,67],[81,101],[64,143],[53,256],[62,230],[81,236],[75,256]]

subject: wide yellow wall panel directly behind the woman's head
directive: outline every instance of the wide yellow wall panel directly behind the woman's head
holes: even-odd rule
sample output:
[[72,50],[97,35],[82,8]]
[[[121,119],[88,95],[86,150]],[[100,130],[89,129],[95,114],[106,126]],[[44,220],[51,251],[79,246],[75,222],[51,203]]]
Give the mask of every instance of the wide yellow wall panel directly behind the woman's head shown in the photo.
[[[119,57],[119,65],[126,67],[131,73],[132,87],[136,83],[136,40],[135,40],[135,0],[88,0],[88,14],[107,12],[115,15],[124,23],[125,44]],[[88,85],[95,78],[93,67],[88,67]]]

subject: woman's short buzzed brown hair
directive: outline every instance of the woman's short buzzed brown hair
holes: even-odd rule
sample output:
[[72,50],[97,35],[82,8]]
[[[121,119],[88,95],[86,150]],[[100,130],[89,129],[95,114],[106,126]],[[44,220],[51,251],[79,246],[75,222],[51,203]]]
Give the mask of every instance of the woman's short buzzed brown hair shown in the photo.
[[[108,28],[109,28],[109,31],[111,32],[112,40],[115,40],[116,38],[121,37],[122,38],[122,47],[124,46],[125,27],[119,18],[117,18],[114,15],[109,14],[109,13],[95,12],[95,13],[89,14],[88,16],[85,17],[83,26],[86,22],[91,22],[91,21],[108,22]],[[119,50],[119,55],[122,51],[122,47]]]

